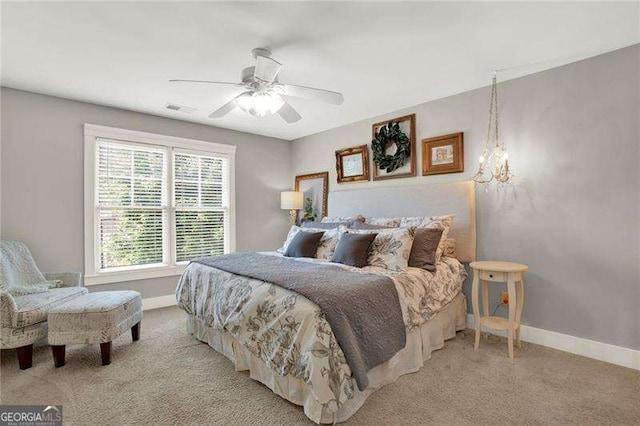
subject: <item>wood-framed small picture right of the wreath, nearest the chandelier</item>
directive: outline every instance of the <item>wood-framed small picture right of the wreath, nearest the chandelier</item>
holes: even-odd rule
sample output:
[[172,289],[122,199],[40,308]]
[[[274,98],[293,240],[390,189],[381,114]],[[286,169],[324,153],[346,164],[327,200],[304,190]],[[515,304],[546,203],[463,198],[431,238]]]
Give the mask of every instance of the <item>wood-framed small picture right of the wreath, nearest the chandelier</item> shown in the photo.
[[422,140],[422,176],[464,172],[464,134]]

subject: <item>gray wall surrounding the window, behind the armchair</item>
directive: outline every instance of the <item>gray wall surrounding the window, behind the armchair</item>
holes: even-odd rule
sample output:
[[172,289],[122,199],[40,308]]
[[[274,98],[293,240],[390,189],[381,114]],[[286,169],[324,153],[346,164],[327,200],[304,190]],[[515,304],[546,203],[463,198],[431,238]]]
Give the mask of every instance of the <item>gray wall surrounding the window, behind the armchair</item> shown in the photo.
[[[293,180],[290,142],[2,88],[2,238],[25,241],[43,270],[84,268],[83,124],[237,146],[237,250],[282,244],[280,191]],[[247,118],[251,119],[251,118]],[[92,286],[173,293],[178,277]]]

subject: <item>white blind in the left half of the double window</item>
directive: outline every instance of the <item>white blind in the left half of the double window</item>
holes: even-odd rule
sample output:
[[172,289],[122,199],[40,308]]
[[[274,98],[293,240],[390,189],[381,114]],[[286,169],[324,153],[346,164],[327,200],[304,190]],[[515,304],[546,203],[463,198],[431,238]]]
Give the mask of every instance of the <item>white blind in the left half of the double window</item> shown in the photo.
[[99,139],[96,153],[99,270],[167,264],[166,149]]

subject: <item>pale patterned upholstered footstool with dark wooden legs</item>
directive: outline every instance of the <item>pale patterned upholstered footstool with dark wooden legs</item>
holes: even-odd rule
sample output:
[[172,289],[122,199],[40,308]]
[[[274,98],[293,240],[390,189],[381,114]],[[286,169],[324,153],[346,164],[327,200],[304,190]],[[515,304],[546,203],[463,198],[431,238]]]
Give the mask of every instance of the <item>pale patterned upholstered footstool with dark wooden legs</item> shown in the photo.
[[102,365],[111,363],[111,341],[131,329],[140,339],[142,297],[137,291],[99,291],[49,311],[48,340],[56,367],[64,365],[66,345],[100,343]]

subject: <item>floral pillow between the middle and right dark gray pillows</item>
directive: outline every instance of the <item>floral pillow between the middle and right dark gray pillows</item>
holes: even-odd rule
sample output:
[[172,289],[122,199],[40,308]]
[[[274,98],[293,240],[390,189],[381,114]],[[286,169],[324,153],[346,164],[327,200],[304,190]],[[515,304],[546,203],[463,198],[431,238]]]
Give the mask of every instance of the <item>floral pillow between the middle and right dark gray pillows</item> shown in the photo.
[[409,266],[414,227],[377,230],[349,229],[347,232],[350,234],[377,234],[369,253],[369,265],[398,272],[404,271]]

